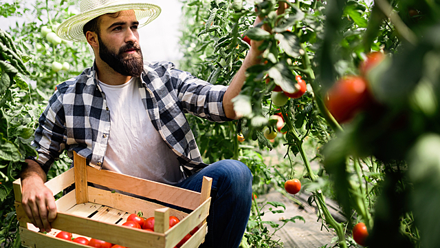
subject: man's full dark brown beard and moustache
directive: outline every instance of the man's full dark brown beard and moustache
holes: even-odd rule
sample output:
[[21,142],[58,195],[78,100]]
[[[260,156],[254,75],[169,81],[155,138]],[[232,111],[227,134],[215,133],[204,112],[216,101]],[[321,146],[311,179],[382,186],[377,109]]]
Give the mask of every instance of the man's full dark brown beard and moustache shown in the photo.
[[[135,43],[127,43],[123,45],[118,53],[115,53],[107,47],[107,45],[102,42],[98,35],[99,41],[99,56],[107,63],[110,68],[122,74],[124,76],[140,76],[144,70],[144,62],[142,57],[142,51],[140,50],[140,45]],[[133,54],[124,54],[127,50],[135,49]]]

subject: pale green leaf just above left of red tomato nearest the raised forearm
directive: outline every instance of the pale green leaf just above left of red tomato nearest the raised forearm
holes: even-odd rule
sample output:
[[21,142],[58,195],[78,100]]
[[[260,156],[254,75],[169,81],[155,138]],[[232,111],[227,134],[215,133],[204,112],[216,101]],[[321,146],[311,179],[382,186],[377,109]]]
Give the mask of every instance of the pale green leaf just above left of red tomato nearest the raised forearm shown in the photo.
[[284,92],[294,93],[296,92],[295,87],[295,75],[289,67],[286,61],[280,61],[274,67],[267,71],[267,74],[274,79],[276,85],[279,85]]

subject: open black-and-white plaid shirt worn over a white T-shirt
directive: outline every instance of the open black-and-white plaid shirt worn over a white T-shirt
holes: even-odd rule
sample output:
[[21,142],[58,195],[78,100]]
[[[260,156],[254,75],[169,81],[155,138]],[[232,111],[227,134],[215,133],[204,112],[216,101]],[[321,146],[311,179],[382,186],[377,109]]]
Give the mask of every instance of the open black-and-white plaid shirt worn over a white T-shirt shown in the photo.
[[[144,62],[140,78],[138,86],[145,110],[181,165],[186,169],[205,167],[184,113],[210,121],[230,121],[222,104],[227,87],[211,85],[166,61]],[[47,173],[67,149],[71,158],[75,151],[87,158],[89,165],[101,169],[109,132],[110,112],[94,64],[58,85],[39,118],[33,143],[39,157],[34,160]]]

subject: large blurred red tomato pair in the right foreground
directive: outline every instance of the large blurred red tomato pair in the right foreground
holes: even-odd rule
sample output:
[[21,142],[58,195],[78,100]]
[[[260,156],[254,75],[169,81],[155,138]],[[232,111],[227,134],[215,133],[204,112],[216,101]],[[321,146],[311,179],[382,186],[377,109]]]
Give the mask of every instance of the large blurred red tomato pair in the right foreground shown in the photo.
[[360,76],[350,75],[337,81],[327,92],[325,105],[339,123],[350,121],[355,114],[368,110],[373,97],[365,75],[385,58],[382,52],[372,52],[360,63]]

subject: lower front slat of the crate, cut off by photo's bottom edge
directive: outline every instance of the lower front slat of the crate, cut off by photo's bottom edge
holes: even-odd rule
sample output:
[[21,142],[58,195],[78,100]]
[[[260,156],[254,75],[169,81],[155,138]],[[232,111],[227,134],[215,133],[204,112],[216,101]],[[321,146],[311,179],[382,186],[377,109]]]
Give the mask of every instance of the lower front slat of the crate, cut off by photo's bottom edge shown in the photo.
[[[55,238],[35,231],[19,227],[21,245],[32,248],[78,248],[89,247],[71,241]],[[89,247],[90,248],[90,247]]]

